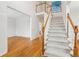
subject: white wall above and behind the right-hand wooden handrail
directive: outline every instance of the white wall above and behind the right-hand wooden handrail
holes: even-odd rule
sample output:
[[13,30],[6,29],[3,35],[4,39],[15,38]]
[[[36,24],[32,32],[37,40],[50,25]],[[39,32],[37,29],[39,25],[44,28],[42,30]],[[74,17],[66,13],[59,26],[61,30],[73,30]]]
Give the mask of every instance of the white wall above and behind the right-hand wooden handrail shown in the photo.
[[[74,25],[77,25],[79,28],[79,1],[71,1],[68,5],[70,9],[70,17],[74,22]],[[72,34],[72,33],[71,33]],[[79,35],[78,35],[79,38]]]

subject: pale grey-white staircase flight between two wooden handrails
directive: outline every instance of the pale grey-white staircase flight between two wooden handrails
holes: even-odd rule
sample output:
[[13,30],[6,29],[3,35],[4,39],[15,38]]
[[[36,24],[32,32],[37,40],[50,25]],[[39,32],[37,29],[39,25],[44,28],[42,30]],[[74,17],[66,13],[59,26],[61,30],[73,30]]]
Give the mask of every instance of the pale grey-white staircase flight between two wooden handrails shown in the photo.
[[70,57],[69,42],[62,16],[52,17],[45,45],[44,56]]

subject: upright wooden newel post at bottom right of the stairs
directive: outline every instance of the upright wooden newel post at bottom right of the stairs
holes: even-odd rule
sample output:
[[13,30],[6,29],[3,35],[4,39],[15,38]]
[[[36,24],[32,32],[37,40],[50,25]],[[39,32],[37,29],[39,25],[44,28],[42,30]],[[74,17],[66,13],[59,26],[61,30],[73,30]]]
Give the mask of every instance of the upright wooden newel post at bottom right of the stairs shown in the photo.
[[77,57],[78,56],[78,46],[77,46],[77,34],[78,34],[78,27],[75,26],[74,28],[74,33],[75,33],[75,38],[74,38],[74,51],[73,51],[73,56]]

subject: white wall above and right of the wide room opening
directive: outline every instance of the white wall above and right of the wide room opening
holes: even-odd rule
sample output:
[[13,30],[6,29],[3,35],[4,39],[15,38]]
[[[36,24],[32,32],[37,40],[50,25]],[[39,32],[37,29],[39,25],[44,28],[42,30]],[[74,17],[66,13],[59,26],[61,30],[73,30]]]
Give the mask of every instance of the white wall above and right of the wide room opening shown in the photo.
[[[36,10],[36,4],[38,2],[33,2],[33,1],[21,1],[21,2],[7,2],[9,6],[22,11],[25,14],[28,14],[30,18],[30,33],[31,33],[31,38],[34,38],[38,35],[39,33],[39,24],[38,24],[38,19],[35,15],[35,10]],[[27,31],[28,32],[28,31]]]

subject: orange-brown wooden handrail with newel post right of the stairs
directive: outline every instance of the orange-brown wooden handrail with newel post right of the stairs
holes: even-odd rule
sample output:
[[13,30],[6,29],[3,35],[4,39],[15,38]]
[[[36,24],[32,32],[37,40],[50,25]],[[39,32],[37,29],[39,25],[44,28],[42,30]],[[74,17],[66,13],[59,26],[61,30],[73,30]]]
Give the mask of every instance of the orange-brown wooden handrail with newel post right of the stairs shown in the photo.
[[77,34],[78,34],[78,27],[74,25],[72,19],[70,18],[69,14],[67,14],[67,18],[68,18],[68,21],[70,22],[73,30],[74,30],[74,48],[73,48],[73,56],[74,57],[78,57],[78,42],[77,42]]

